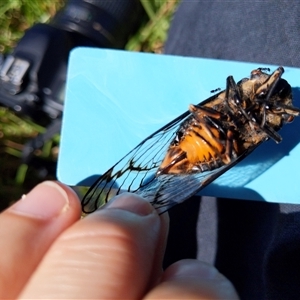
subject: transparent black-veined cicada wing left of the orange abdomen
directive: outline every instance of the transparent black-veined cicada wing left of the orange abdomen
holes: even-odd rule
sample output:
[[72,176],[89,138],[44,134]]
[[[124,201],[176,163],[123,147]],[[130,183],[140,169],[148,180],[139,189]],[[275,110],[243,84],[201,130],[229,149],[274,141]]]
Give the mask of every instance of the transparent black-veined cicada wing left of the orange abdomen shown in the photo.
[[182,114],[150,135],[100,176],[82,200],[83,212],[92,213],[112,196],[124,191],[134,193],[149,185],[180,124],[189,115],[188,112]]

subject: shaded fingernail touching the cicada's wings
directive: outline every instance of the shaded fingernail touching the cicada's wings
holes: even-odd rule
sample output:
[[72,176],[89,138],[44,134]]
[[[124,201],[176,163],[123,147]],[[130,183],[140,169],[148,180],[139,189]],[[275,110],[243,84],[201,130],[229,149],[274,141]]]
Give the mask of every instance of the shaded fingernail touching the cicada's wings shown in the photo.
[[145,199],[130,193],[114,197],[105,208],[119,208],[140,216],[147,216],[154,211],[153,206]]

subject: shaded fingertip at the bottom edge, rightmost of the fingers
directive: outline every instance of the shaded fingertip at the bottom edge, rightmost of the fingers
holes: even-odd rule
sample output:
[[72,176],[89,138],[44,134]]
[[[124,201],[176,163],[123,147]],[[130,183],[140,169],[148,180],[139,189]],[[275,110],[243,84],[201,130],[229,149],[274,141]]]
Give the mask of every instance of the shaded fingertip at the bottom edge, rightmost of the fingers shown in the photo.
[[238,296],[230,281],[217,269],[190,259],[171,265],[161,283],[143,299],[238,299]]

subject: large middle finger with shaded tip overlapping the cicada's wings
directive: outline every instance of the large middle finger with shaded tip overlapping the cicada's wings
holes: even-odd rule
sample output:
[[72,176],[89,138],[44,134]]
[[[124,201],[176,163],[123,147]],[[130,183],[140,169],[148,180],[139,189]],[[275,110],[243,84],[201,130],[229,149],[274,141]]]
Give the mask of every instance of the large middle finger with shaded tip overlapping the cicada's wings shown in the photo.
[[122,194],[59,237],[21,296],[140,299],[150,284],[160,228],[148,202]]

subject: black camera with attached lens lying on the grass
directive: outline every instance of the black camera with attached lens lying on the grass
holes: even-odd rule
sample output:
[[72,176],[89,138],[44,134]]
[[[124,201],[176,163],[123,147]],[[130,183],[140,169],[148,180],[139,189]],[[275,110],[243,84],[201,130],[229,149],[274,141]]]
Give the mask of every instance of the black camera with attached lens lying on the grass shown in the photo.
[[0,59],[0,104],[49,125],[62,115],[70,50],[122,49],[143,16],[138,0],[69,0],[50,24],[34,25]]

